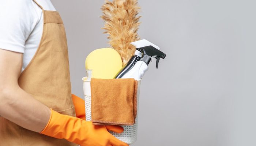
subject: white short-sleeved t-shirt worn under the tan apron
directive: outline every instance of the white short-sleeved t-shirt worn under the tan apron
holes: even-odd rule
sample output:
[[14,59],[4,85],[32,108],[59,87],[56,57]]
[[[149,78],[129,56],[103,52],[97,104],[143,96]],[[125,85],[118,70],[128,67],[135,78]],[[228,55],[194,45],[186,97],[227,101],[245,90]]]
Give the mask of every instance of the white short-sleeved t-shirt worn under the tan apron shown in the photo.
[[[56,11],[50,0],[36,0]],[[42,9],[33,0],[0,0],[0,49],[23,54],[22,71],[37,51],[43,32]]]

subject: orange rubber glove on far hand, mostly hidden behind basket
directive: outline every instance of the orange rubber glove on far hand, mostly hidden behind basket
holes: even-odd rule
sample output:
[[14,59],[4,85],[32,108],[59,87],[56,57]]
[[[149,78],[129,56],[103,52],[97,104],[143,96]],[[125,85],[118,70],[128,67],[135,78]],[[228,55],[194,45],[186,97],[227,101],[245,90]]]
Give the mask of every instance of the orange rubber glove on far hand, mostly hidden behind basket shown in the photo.
[[85,120],[84,100],[74,94],[72,94],[72,100],[75,105],[76,117]]

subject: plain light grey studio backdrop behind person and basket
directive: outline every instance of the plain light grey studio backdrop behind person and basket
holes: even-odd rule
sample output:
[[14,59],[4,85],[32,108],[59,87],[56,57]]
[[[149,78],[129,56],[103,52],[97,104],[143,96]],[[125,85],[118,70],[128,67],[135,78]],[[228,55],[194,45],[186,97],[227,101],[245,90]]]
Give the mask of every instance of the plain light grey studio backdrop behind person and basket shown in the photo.
[[[103,0],[52,0],[67,31],[72,93],[108,47]],[[142,79],[134,146],[256,145],[256,2],[139,0],[138,34],[166,54]]]

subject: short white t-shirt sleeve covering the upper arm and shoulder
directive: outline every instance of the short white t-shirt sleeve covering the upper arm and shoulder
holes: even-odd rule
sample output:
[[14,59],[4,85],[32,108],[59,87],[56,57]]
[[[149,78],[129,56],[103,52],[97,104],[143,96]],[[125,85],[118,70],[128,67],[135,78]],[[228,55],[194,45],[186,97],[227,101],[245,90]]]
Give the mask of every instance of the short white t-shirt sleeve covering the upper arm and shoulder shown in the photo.
[[0,49],[24,53],[35,25],[30,0],[0,0]]

